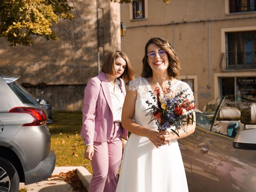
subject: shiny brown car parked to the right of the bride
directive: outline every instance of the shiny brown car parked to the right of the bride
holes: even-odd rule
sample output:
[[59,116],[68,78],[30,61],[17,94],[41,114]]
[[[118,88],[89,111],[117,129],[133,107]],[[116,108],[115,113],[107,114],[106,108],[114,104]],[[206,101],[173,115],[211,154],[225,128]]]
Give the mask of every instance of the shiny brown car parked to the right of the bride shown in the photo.
[[256,192],[256,98],[212,100],[179,145],[190,192]]

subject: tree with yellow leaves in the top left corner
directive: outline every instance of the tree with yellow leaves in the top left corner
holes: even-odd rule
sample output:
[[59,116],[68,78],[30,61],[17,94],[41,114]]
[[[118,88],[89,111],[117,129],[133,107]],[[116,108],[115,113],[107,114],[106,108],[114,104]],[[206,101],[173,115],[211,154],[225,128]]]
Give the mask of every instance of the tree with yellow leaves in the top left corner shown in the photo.
[[32,44],[32,35],[56,40],[50,26],[58,20],[72,19],[67,0],[1,0],[0,37],[6,37],[11,46]]

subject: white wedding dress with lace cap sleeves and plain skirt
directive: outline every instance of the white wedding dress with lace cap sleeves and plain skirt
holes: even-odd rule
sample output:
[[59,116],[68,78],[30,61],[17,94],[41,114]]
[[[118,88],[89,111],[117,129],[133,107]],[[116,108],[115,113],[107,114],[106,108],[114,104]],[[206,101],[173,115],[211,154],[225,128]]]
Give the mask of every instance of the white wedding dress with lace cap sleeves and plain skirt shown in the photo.
[[[188,84],[178,81],[171,85],[175,93],[187,90],[189,100],[194,100]],[[130,82],[129,90],[137,90],[134,121],[143,127],[157,130],[150,116],[146,101],[154,104],[150,84],[146,78]],[[182,130],[180,130],[182,131]],[[188,192],[186,174],[177,140],[156,148],[146,137],[131,134],[124,148],[120,177],[116,192]]]

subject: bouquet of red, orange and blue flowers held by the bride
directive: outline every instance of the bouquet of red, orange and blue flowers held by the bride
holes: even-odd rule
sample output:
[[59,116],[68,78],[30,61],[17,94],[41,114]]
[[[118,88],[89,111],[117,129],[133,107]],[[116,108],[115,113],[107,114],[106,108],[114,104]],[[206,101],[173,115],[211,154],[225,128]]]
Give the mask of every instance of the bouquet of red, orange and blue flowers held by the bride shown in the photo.
[[170,128],[172,132],[179,136],[178,130],[180,128],[186,132],[184,122],[186,122],[187,125],[193,124],[193,110],[196,108],[196,105],[194,100],[188,100],[189,94],[185,94],[187,89],[174,94],[172,90],[170,90],[170,82],[168,82],[168,84],[169,87],[167,88],[156,87],[154,92],[150,91],[157,105],[147,100],[146,104],[148,104],[150,108],[146,109],[149,110],[146,116],[151,116],[150,122],[156,120],[158,130],[166,131]]

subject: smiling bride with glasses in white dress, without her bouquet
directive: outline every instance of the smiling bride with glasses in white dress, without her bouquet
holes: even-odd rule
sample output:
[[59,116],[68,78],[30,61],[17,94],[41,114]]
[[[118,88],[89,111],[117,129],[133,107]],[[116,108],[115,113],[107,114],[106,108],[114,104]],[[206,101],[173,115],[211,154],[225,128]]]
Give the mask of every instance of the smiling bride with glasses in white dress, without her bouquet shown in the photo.
[[167,40],[148,41],[142,77],[130,82],[124,101],[122,125],[132,134],[124,149],[116,192],[188,192],[177,139],[192,134],[195,123],[185,125],[187,131],[181,129],[180,137],[171,131],[161,135],[156,122],[150,122],[151,117],[146,116],[149,108],[146,101],[156,104],[150,91],[168,87],[168,82],[174,93],[187,90],[188,99],[194,100],[188,84],[175,79],[179,69],[178,57]]

